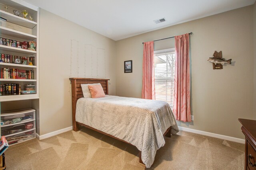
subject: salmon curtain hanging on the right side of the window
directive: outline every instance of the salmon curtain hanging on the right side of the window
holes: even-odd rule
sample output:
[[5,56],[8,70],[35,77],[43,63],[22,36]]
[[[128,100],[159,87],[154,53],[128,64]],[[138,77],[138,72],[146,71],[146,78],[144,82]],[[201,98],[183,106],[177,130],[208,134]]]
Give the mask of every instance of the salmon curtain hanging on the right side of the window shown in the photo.
[[175,36],[174,117],[191,121],[189,34]]

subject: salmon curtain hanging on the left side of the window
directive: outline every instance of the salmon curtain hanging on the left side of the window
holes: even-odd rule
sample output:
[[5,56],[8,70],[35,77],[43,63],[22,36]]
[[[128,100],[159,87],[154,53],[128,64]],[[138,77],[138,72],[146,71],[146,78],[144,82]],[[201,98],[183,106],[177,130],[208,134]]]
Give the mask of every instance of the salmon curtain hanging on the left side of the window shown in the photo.
[[156,99],[153,41],[144,43],[142,64],[142,99]]

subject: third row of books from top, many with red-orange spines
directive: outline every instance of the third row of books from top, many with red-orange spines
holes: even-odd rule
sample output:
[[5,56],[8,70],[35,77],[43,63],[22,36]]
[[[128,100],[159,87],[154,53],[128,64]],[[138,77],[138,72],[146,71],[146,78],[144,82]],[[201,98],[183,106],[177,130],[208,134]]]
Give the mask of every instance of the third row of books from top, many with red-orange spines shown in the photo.
[[34,79],[34,70],[19,70],[15,68],[2,68],[0,78],[7,79]]

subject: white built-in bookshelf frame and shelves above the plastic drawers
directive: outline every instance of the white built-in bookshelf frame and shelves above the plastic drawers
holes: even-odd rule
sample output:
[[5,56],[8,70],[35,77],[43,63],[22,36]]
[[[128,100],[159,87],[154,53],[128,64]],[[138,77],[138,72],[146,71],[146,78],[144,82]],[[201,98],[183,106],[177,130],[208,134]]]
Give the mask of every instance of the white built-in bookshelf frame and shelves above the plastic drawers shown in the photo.
[[[7,10],[6,7],[7,6]],[[13,10],[18,10],[20,12],[19,16],[14,15]],[[28,16],[24,18],[22,10],[28,12]],[[30,19],[29,15],[33,19]],[[8,40],[19,41],[19,42],[36,42],[36,51],[30,49],[18,48],[11,45],[5,45],[0,43],[0,54],[7,54],[11,56],[21,56],[22,58],[34,57],[33,65],[27,64],[17,64],[14,61],[4,61],[0,63],[0,70],[3,68],[8,68],[10,70],[25,70],[26,72],[33,72],[33,79],[19,79],[19,78],[6,78],[1,76],[0,84],[5,83],[19,83],[22,90],[26,84],[33,84],[35,86],[36,94],[24,94],[20,96],[0,96],[0,102],[12,101],[12,100],[28,100],[39,98],[39,41],[38,41],[38,20],[39,12],[38,8],[31,6],[30,4],[23,2],[21,0],[1,0],[0,2],[0,16],[6,19],[6,22],[2,21],[0,25],[0,37]],[[4,24],[3,24],[4,23]],[[0,57],[1,60],[1,57]],[[28,62],[28,61],[27,61]],[[30,98],[31,97],[31,98]]]

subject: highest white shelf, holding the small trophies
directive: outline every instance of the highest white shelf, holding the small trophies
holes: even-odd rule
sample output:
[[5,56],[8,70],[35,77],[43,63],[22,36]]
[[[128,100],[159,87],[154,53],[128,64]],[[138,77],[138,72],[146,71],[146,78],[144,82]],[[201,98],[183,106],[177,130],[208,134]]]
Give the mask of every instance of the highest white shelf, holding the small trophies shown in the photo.
[[28,27],[28,28],[31,28],[31,29],[34,28],[37,25],[37,23],[34,22],[34,21],[30,21],[28,19],[16,16],[14,14],[10,14],[10,13],[5,12],[3,10],[0,10],[0,16],[2,18],[5,18],[8,22],[15,23],[15,24],[18,24],[18,25],[21,25],[21,26],[24,26],[24,27]]

